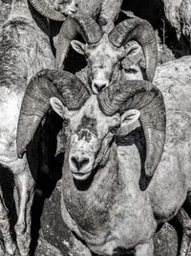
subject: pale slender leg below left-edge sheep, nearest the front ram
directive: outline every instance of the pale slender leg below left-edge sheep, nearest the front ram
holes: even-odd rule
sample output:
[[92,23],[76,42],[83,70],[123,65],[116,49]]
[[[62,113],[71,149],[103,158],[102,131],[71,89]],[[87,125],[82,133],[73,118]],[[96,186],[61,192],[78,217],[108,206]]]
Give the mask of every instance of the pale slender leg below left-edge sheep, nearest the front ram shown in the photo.
[[19,195],[18,220],[15,225],[16,241],[22,256],[29,255],[31,243],[31,208],[34,181],[30,172],[15,176]]

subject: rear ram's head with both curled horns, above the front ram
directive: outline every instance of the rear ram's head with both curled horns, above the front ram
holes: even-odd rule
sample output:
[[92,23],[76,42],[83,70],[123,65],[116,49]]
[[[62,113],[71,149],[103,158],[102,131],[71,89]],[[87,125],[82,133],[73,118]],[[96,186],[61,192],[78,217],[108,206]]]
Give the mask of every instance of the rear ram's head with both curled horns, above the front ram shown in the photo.
[[[153,81],[158,61],[158,47],[155,32],[145,20],[137,17],[126,19],[109,33],[103,34],[96,21],[90,17],[75,15],[62,25],[62,37],[58,38],[56,63],[61,68],[70,44],[75,51],[84,54],[88,61],[88,79],[94,93],[100,92],[112,81],[120,80],[120,63],[128,55],[136,54],[138,45],[127,44],[130,40],[138,41],[146,59],[146,75]],[[73,40],[81,34],[86,44]]]

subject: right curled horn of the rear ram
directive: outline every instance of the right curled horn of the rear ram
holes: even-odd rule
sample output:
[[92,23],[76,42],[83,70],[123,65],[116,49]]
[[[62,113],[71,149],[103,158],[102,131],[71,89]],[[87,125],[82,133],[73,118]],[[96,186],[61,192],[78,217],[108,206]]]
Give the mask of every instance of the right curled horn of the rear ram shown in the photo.
[[130,40],[138,41],[146,60],[146,75],[148,81],[153,81],[158,63],[158,44],[156,34],[151,24],[140,18],[126,19],[109,34],[110,42],[117,46],[124,46]]

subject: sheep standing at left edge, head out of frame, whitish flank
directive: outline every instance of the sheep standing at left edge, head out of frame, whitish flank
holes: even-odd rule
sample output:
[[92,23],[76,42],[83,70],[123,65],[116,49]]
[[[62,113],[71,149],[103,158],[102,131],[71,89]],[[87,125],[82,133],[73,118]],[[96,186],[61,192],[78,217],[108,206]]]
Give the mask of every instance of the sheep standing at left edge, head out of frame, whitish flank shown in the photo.
[[[55,64],[48,24],[45,19],[34,21],[32,14],[27,0],[13,0],[11,15],[0,30],[0,164],[15,176],[19,194],[15,232],[23,256],[29,252],[33,179],[27,157],[19,159],[16,154],[16,127],[27,83],[36,72],[54,68]],[[5,250],[13,255],[16,247],[11,239],[8,210],[0,195],[0,229]]]

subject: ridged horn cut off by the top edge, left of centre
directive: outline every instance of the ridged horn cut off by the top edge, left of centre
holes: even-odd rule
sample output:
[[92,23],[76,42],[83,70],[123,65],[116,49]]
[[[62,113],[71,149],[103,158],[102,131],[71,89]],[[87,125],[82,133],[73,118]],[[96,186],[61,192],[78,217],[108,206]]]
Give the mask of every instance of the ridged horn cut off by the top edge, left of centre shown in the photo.
[[41,15],[55,20],[55,21],[64,21],[66,19],[65,15],[60,12],[56,12],[55,10],[51,9],[45,0],[29,0],[32,7],[35,9],[36,12],[39,12]]

